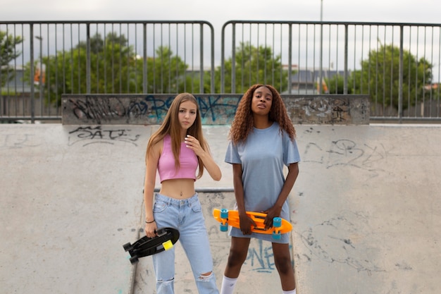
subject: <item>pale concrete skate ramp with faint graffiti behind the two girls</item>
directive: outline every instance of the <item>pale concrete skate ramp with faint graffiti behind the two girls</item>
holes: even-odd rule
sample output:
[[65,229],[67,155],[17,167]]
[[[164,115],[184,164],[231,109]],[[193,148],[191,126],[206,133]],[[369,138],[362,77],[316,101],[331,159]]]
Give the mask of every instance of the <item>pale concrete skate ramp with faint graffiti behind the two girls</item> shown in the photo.
[[[302,162],[290,195],[299,294],[438,293],[438,125],[298,125]],[[1,293],[156,291],[151,258],[122,245],[143,227],[144,154],[156,126],[1,125]],[[197,181],[221,285],[230,239],[228,125],[206,126],[223,178]],[[265,150],[262,150],[265,152]],[[175,289],[197,293],[177,243]],[[236,293],[281,293],[270,243],[251,243]]]

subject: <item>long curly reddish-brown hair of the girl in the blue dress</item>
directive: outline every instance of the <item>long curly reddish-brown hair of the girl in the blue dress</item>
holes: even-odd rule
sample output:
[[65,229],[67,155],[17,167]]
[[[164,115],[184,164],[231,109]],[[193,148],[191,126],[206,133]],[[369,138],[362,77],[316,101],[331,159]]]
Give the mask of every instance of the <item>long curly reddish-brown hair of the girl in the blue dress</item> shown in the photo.
[[248,134],[253,130],[254,121],[251,112],[251,100],[253,99],[254,91],[259,87],[267,87],[273,93],[273,103],[268,114],[269,121],[277,122],[280,125],[280,131],[285,130],[290,139],[294,141],[296,136],[294,125],[292,125],[292,121],[287,114],[282,97],[280,97],[278,90],[275,90],[275,87],[263,84],[252,85],[242,96],[237,106],[235,118],[231,123],[230,140],[233,144],[245,142]]

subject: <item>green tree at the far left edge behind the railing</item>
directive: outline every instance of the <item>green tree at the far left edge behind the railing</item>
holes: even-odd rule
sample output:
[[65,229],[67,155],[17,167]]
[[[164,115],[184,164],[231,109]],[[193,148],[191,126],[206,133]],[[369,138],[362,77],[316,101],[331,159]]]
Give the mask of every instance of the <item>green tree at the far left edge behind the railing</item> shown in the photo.
[[22,37],[13,37],[6,32],[0,31],[0,85],[4,86],[13,78],[13,70],[9,63],[20,56],[21,51],[15,46],[23,42]]

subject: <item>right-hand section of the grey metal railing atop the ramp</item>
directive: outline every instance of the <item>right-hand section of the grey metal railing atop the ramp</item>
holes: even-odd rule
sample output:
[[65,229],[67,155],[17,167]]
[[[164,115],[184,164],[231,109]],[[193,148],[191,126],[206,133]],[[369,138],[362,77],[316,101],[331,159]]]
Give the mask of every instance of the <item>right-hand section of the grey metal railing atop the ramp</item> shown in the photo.
[[369,94],[373,121],[441,121],[440,48],[441,24],[231,20],[221,92]]

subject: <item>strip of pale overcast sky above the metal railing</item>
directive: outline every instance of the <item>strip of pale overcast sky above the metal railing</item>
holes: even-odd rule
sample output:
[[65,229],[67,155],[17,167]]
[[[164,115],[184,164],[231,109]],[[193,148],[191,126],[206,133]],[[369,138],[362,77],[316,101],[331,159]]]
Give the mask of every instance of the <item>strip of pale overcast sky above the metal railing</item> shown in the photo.
[[[2,0],[0,20],[320,20],[322,0]],[[323,20],[441,23],[440,0],[323,0]]]

